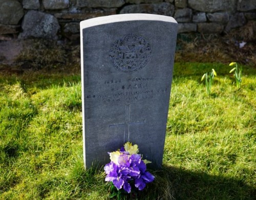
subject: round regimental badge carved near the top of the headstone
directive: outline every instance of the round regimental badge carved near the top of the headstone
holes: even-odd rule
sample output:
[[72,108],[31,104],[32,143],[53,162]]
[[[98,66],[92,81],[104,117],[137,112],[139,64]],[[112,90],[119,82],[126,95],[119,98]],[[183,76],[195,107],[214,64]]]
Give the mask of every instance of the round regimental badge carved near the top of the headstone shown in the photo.
[[138,71],[150,61],[151,46],[144,37],[128,34],[113,43],[109,56],[117,70]]

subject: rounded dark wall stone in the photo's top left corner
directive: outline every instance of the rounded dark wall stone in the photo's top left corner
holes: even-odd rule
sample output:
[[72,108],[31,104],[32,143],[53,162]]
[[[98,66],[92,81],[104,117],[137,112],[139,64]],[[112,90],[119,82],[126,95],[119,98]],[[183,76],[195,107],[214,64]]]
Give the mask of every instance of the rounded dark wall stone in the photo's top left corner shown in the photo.
[[16,0],[0,0],[0,23],[16,25],[23,17],[22,5]]

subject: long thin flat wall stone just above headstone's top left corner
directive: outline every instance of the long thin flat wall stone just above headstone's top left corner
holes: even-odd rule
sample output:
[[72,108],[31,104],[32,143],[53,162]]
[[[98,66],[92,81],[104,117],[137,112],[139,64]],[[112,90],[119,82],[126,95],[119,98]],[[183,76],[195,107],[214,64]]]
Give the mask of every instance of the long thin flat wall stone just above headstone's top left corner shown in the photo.
[[115,9],[110,9],[108,11],[92,11],[92,12],[84,12],[84,13],[56,13],[55,17],[58,19],[72,19],[72,20],[86,20],[95,17],[102,17],[106,15],[114,15],[116,14]]

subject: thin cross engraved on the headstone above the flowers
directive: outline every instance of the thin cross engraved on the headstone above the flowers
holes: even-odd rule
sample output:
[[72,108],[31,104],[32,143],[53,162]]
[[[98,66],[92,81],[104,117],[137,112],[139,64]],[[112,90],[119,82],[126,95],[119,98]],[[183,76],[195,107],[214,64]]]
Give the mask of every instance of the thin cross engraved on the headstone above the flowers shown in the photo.
[[131,105],[125,105],[125,121],[123,123],[115,123],[115,124],[110,124],[110,128],[111,127],[119,127],[119,126],[124,126],[124,138],[123,138],[123,143],[125,143],[126,141],[130,141],[130,130],[129,127],[132,125],[136,125],[136,124],[143,124],[145,123],[145,119],[143,119],[142,121],[130,121],[130,107]]

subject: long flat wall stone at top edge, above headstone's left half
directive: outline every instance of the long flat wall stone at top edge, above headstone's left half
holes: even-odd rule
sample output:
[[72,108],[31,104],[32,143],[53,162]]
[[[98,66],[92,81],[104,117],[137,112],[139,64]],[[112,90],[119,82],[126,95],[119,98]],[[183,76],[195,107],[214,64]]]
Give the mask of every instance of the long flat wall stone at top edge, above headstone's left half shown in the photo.
[[89,8],[119,8],[124,5],[124,0],[77,0],[76,6]]

